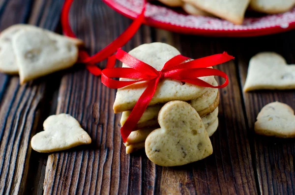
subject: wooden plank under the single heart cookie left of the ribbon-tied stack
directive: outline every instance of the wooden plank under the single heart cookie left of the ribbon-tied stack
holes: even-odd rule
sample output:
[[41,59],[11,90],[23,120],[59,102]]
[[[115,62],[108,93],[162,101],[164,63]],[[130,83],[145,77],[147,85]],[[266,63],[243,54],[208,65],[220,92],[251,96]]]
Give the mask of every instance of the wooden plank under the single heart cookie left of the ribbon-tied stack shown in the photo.
[[[105,47],[131,23],[102,1],[81,2],[74,1],[70,18],[73,30],[85,40],[91,53]],[[126,45],[126,50],[142,44],[140,34]],[[105,63],[98,65],[103,67]],[[141,157],[125,154],[119,134],[120,115],[115,115],[112,109],[115,94],[115,90],[101,84],[100,77],[90,75],[83,65],[62,78],[57,113],[77,118],[92,143],[49,156],[44,194],[141,192],[141,175],[137,174],[140,167],[132,164]]]

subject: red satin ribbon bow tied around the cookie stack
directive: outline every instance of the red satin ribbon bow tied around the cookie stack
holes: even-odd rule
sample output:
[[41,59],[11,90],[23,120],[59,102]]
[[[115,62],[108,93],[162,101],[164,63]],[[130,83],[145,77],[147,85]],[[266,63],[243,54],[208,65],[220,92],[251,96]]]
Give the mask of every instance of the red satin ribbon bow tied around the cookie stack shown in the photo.
[[[161,79],[173,79],[181,82],[195,84],[204,87],[223,88],[228,85],[228,76],[217,69],[208,68],[217,64],[227,62],[234,59],[226,52],[213,56],[207,56],[192,61],[184,62],[189,59],[185,56],[175,56],[167,61],[161,71],[157,71],[147,63],[127,54],[121,49],[118,49],[116,55],[109,57],[108,66],[116,63],[116,58],[128,65],[130,68],[107,68],[101,73],[101,82],[110,88],[121,88],[130,84],[146,81],[148,86],[143,94],[138,99],[125,124],[121,128],[121,136],[126,142],[130,133],[135,130],[135,126],[140,120],[141,116],[148,107],[152,99],[157,85]],[[225,82],[218,86],[213,86],[198,79],[198,77],[205,76],[220,76],[225,79]],[[139,79],[135,81],[118,81],[112,78],[127,78]]]

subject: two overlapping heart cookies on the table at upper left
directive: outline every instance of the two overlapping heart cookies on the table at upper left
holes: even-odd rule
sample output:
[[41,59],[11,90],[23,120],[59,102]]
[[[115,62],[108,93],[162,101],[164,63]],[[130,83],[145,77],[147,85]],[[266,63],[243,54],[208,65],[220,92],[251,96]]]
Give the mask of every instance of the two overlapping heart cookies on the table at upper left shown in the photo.
[[19,74],[23,84],[74,65],[82,44],[35,26],[13,25],[0,33],[0,72]]

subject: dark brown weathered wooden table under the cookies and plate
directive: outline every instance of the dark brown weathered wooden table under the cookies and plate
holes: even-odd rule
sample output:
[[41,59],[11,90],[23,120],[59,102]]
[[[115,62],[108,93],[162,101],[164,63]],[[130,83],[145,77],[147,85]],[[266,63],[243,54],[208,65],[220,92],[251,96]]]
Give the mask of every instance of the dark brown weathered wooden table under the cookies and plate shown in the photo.
[[[63,0],[0,0],[0,29],[29,23],[60,32],[62,4]],[[75,0],[70,20],[91,54],[132,22],[101,0]],[[295,194],[295,139],[266,138],[253,131],[267,103],[280,101],[295,109],[294,90],[242,91],[249,59],[256,53],[274,51],[295,63],[294,33],[210,38],[143,26],[126,44],[125,51],[161,41],[192,58],[223,51],[236,56],[217,66],[228,74],[230,84],[220,90],[213,154],[181,167],[155,166],[144,152],[125,154],[120,114],[112,109],[116,90],[101,84],[83,64],[24,85],[17,76],[0,74],[0,194]],[[105,65],[106,61],[98,64]],[[92,144],[49,156],[32,151],[30,139],[43,130],[45,118],[61,112],[80,121]]]

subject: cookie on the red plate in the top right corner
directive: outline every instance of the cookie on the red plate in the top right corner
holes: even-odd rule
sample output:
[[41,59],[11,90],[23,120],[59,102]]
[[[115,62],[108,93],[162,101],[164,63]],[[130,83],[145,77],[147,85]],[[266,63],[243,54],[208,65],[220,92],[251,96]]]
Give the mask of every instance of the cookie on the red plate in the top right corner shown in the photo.
[[250,7],[258,12],[277,14],[289,11],[295,0],[251,0]]

